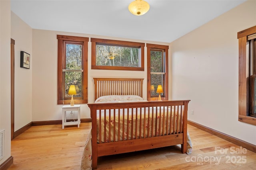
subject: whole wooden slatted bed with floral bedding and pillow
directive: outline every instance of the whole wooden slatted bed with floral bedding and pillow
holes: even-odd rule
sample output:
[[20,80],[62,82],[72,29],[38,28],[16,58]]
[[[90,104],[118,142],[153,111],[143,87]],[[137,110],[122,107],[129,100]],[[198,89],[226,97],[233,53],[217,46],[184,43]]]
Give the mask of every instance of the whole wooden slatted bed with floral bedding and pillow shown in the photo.
[[99,156],[178,144],[182,153],[187,152],[190,100],[146,101],[142,83],[140,78],[94,78],[95,103],[88,104],[92,142],[88,137],[85,147],[91,147],[87,157],[92,169],[97,168]]

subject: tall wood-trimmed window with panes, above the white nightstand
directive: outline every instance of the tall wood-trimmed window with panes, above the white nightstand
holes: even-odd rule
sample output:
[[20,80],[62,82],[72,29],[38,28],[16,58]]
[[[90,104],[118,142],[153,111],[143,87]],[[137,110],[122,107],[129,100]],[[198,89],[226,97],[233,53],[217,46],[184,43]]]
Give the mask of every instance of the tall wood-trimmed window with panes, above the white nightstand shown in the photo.
[[58,104],[70,104],[70,85],[75,85],[75,104],[88,103],[87,37],[57,35],[58,39]]

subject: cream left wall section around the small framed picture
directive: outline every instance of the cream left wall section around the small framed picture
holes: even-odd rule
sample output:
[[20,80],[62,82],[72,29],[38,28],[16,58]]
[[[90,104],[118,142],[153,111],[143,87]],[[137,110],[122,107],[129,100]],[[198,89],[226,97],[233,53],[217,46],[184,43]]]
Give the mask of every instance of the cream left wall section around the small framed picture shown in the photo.
[[[32,28],[11,12],[11,38],[15,40],[14,131],[32,121]],[[30,54],[30,69],[20,67],[20,51]]]

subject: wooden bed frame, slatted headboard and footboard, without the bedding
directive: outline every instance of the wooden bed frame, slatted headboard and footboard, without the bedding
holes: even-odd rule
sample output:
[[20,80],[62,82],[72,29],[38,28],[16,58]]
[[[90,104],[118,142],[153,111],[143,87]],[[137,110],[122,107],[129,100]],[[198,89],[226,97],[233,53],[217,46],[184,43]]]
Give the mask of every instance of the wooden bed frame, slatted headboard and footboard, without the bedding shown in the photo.
[[[142,97],[142,82],[143,79],[138,78],[94,78],[94,85],[95,85],[95,100],[100,96],[107,96],[107,95],[138,95]],[[151,102],[123,102],[123,103],[94,103],[94,104],[88,104],[90,107],[90,114],[92,118],[92,169],[97,169],[97,159],[99,156],[106,156],[106,155],[112,155],[112,154],[120,154],[120,153],[126,153],[126,152],[134,152],[138,150],[146,150],[146,149],[154,149],[159,147],[167,147],[172,145],[178,145],[181,144],[181,152],[186,153],[187,150],[187,111],[188,111],[188,102],[190,100],[182,100],[182,101],[151,101]],[[176,109],[176,112],[178,112],[178,119],[174,119],[175,123],[170,121],[170,123],[167,125],[164,125],[164,123],[160,123],[159,130],[161,128],[168,128],[173,127],[177,128],[180,127],[179,131],[174,133],[160,133],[153,136],[153,133],[151,136],[153,137],[145,137],[145,131],[148,130],[148,127],[141,127],[141,122],[138,121],[139,126],[132,125],[131,131],[140,131],[144,134],[144,137],[135,137],[135,139],[124,139],[124,131],[123,134],[114,133],[115,135],[118,135],[118,138],[114,137],[114,140],[109,140],[107,142],[102,142],[101,139],[97,142],[97,110],[104,110],[105,116],[106,111],[110,111],[110,109],[118,109],[119,111],[124,108],[140,108],[138,113],[136,111],[136,118],[138,116],[138,120],[141,120],[140,117],[144,114],[141,113],[142,108],[150,108],[150,107],[168,107],[168,108],[174,108]],[[119,114],[119,113],[118,113]],[[130,113],[129,113],[130,114]],[[134,114],[134,113],[132,113]],[[131,114],[131,116],[133,116]],[[146,114],[146,113],[145,113]],[[149,113],[148,113],[149,114]],[[151,113],[150,113],[151,114]],[[161,113],[159,111],[157,113],[154,113],[154,116],[159,116],[160,119],[162,117],[163,120],[168,120],[168,114]],[[107,115],[108,116],[108,115]],[[120,116],[120,115],[119,115]],[[153,116],[153,114],[152,114]],[[114,117],[114,119],[118,119],[118,117]],[[178,121],[182,120],[182,121]],[[106,122],[106,119],[105,119]],[[159,120],[160,122],[160,120]],[[159,123],[158,122],[158,123]],[[168,121],[166,121],[168,122]],[[102,123],[102,122],[99,122]],[[123,122],[124,123],[124,122]],[[128,122],[127,122],[128,123]],[[153,123],[148,121],[148,123]],[[157,124],[157,122],[155,122]],[[110,121],[109,123],[104,123],[104,128],[99,127],[99,131],[102,131],[105,133],[104,139],[106,139],[106,127],[111,127]],[[145,124],[145,123],[144,123]],[[153,125],[153,124],[152,124]],[[112,125],[113,126],[113,125]],[[135,127],[134,127],[135,126]],[[154,125],[157,129],[157,126]],[[176,127],[177,126],[177,127]],[[120,123],[118,128],[124,127],[123,124]],[[114,128],[115,123],[114,123]],[[139,129],[138,129],[139,128]],[[124,128],[123,128],[124,129]],[[127,127],[128,129],[128,127]],[[168,130],[166,129],[166,132]],[[107,132],[110,136],[110,131]],[[112,133],[112,132],[111,132]],[[127,133],[129,133],[127,131]],[[131,133],[131,132],[130,132]],[[156,134],[156,133],[155,133]],[[121,135],[121,136],[120,136]],[[136,133],[137,135],[137,133]],[[150,136],[150,135],[148,135]],[[120,138],[122,138],[120,140]]]

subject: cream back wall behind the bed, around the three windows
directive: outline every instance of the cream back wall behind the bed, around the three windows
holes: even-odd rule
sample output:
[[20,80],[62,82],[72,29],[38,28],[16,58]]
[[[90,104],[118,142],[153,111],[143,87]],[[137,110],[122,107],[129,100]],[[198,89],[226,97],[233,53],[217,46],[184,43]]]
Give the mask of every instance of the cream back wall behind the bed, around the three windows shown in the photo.
[[[32,121],[49,121],[62,119],[62,105],[57,104],[57,35],[72,35],[80,37],[93,37],[103,39],[115,39],[122,41],[134,41],[141,43],[154,43],[169,45],[168,43],[138,41],[133,39],[121,39],[103,37],[81,33],[67,33],[58,31],[46,31],[33,29],[33,72],[32,72]],[[124,70],[92,70],[91,69],[91,43],[88,42],[88,103],[94,102],[94,77],[127,77],[144,78],[143,97],[146,99],[146,47],[144,55],[144,71]],[[72,118],[72,117],[67,117]],[[90,109],[87,104],[81,106],[81,118],[90,118]]]

